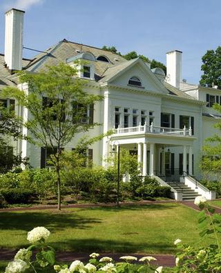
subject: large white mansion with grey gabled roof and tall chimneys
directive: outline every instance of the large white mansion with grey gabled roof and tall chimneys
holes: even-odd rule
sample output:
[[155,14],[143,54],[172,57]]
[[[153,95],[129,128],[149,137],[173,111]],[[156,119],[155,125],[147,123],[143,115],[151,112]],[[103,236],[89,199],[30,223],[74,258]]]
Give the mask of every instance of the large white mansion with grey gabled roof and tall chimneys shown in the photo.
[[[200,152],[204,139],[215,133],[216,119],[220,119],[212,106],[215,102],[221,104],[221,92],[182,81],[182,52],[166,53],[166,75],[161,68],[151,70],[140,58],[126,61],[119,54],[66,39],[34,59],[23,59],[23,14],[16,9],[6,12],[0,89],[16,85],[13,70],[39,72],[45,65],[56,65],[61,61],[72,65],[77,59],[85,59],[87,65],[78,76],[88,79],[84,86],[86,92],[104,95],[104,101],[94,105],[94,109],[88,109],[90,119],[102,123],[90,135],[115,128],[115,134],[88,149],[93,163],[104,165],[113,145],[120,145],[131,152],[136,151],[142,175],[155,176],[162,185],[166,185],[164,177],[177,181],[179,176],[192,190],[198,188],[199,194],[208,199],[214,197],[213,192],[200,184],[196,187],[192,176],[200,178]],[[17,114],[28,119],[28,111],[17,105],[13,98],[1,101],[6,107],[15,105]],[[23,130],[28,134],[25,128]],[[66,149],[74,148],[76,141],[73,139]],[[22,156],[28,156],[34,168],[46,167],[49,150],[25,140],[15,141],[13,149],[15,154],[22,152]],[[175,198],[184,199],[180,185],[177,182],[170,185]]]

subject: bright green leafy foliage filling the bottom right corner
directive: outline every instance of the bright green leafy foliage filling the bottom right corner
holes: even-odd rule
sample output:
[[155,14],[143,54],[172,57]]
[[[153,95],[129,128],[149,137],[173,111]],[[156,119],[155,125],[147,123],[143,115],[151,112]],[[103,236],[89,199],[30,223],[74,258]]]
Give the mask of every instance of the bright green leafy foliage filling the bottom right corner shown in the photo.
[[218,273],[221,270],[221,215],[215,214],[215,209],[208,203],[202,202],[199,205],[201,212],[198,214],[198,225],[200,236],[210,236],[214,243],[209,247],[193,247],[177,243],[177,259],[173,272],[186,273]]

